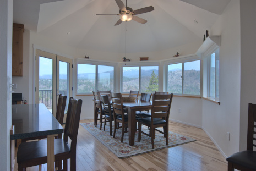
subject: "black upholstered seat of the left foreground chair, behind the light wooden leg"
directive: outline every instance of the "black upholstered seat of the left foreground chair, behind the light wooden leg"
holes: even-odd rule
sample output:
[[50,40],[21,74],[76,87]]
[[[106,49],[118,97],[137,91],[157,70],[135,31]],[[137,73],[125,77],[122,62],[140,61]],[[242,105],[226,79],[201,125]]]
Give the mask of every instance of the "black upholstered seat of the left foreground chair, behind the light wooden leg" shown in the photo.
[[[68,154],[70,147],[63,139],[54,140],[54,153],[58,156]],[[47,140],[24,142],[19,145],[17,152],[17,163],[24,163],[31,161],[32,159],[39,159],[39,161],[45,160],[43,163],[47,163]]]

